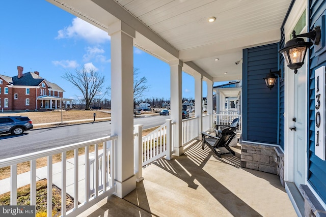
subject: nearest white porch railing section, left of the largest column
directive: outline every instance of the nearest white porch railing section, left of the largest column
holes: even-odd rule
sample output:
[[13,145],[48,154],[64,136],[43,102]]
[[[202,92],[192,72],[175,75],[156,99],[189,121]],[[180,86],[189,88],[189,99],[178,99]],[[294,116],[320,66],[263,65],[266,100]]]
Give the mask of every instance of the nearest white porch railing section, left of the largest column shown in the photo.
[[[61,215],[62,216],[76,216],[83,211],[87,210],[97,202],[115,192],[114,185],[114,147],[117,136],[107,136],[100,139],[94,139],[86,142],[79,142],[63,147],[52,148],[48,150],[38,151],[34,153],[24,154],[22,156],[0,160],[0,168],[10,166],[11,169],[11,187],[10,187],[10,205],[17,205],[17,164],[28,162],[31,163],[30,180],[27,181],[31,184],[31,205],[36,205],[36,179],[37,164],[36,160],[46,157],[46,179],[47,179],[47,216],[52,216],[52,184],[53,184],[53,169],[52,169],[52,156],[61,153]],[[103,147],[99,154],[98,144],[102,143]],[[110,144],[111,143],[111,144]],[[94,145],[94,152],[90,153],[90,146]],[[84,156],[79,156],[78,148],[85,148]],[[67,151],[73,151],[74,157],[72,161],[73,168],[67,168]],[[94,154],[96,160],[90,161],[90,154]],[[79,161],[81,161],[79,163]],[[85,164],[82,163],[85,162]],[[82,168],[83,167],[83,168]],[[91,169],[101,168],[101,170]],[[85,175],[80,173],[84,169]],[[41,174],[44,175],[44,172]],[[58,177],[57,177],[58,178]],[[80,179],[85,180],[84,186],[78,183]],[[67,180],[73,180],[73,194],[74,206],[71,210],[66,210],[66,193],[67,193]],[[92,183],[92,185],[91,185]],[[82,193],[81,193],[82,192]],[[85,193],[84,198],[79,197]],[[82,201],[80,204],[78,201]]]

